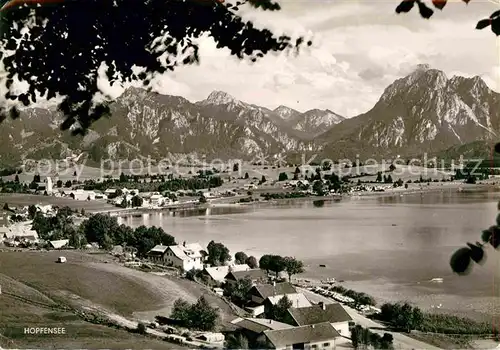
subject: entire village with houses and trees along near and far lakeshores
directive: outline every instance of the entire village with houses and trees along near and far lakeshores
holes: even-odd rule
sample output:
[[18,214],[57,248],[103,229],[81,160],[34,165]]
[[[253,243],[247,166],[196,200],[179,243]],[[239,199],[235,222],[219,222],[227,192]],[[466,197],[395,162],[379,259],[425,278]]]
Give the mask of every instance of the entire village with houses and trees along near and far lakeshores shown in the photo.
[[[54,184],[51,177],[42,180],[35,176],[29,183],[30,198],[33,198],[30,205],[8,204],[9,196],[5,196],[3,217],[0,218],[0,222],[4,223],[0,226],[1,243],[5,251],[15,251],[17,254],[57,254],[54,256],[55,264],[72,264],[73,252],[104,254],[112,257],[110,265],[147,276],[180,278],[202,286],[207,293],[217,298],[217,305],[222,303],[229,307],[232,319],[228,319],[226,312],[223,321],[215,321],[219,319],[217,316],[210,326],[196,325],[189,315],[193,313],[200,317],[197,314],[200,310],[194,309],[198,304],[206,303],[204,299],[192,305],[180,302],[183,310],[175,311],[174,305],[170,314],[149,314],[147,318],[130,319],[113,313],[103,316],[129,331],[189,347],[334,349],[356,348],[365,341],[366,345],[371,342],[378,348],[386,349],[396,346],[429,348],[428,344],[389,330],[369,319],[379,315],[381,309],[367,295],[346,291],[334,280],[318,282],[293,278],[293,275],[304,271],[302,262],[294,258],[270,256],[273,262],[266,262],[263,258],[257,262],[253,257],[238,258],[241,252],[233,257],[228,255],[227,248],[221,243],[212,241],[207,247],[197,242],[177,243],[172,236],[155,227],[142,231],[140,228],[135,231],[130,229],[125,234],[123,230],[127,228],[109,223],[107,219],[116,220],[122,210],[176,210],[183,206],[224,203],[224,200],[239,205],[242,199],[252,198],[253,193],[264,198],[258,197],[256,200],[307,196],[326,198],[408,187],[399,182],[395,182],[398,183],[396,186],[387,181],[385,175],[381,183],[371,179],[364,183],[358,181],[357,184],[349,179],[339,179],[334,174],[324,176],[327,179],[319,174],[311,179],[298,177],[290,180],[280,174],[277,180],[267,180],[264,176],[259,180],[244,176],[243,181],[228,180],[224,186],[222,182],[211,183],[211,179],[200,177],[194,179],[197,186],[183,184],[184,187],[191,186],[191,189],[172,186],[187,180],[170,179],[163,182],[168,185],[166,190],[148,191],[149,187],[144,183],[124,179],[114,182],[106,180],[109,181],[106,188],[89,189],[99,186],[95,183],[89,186],[89,182],[79,183],[77,180],[62,184],[58,179]],[[47,203],[48,198],[64,205],[41,204]],[[73,203],[102,203],[108,205],[108,209],[90,212],[83,207],[76,209]],[[83,227],[86,232],[78,229],[93,219],[93,225],[100,225],[99,220],[107,222],[106,225],[111,225],[108,226],[109,230],[106,226],[99,228],[97,231],[101,230],[102,235],[97,237],[92,227]],[[74,225],[76,229],[68,229],[66,223]],[[123,238],[124,235],[128,236]],[[212,243],[214,245],[211,247]],[[222,254],[224,258],[214,258],[214,254]],[[182,298],[182,295],[178,297]],[[204,308],[212,310],[213,302],[214,299]],[[217,314],[213,312],[213,315]],[[353,339],[352,334],[360,332],[365,333],[365,338],[360,336],[359,339]]]

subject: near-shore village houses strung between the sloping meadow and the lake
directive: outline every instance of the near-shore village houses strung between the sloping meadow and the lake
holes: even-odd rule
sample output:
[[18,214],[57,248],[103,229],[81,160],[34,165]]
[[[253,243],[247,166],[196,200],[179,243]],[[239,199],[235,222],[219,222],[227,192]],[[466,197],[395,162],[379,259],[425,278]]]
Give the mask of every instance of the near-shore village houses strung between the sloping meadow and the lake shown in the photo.
[[[32,243],[32,239],[36,239],[36,232],[30,230],[28,224],[15,224],[14,227],[16,228],[2,233],[5,246],[28,247],[28,242]],[[25,240],[12,244],[13,235],[19,233],[26,234]],[[39,249],[57,251],[59,257],[54,263],[68,264],[71,263],[70,258],[67,258],[71,250],[68,243],[67,239],[50,241]],[[85,246],[88,252],[99,248],[96,243]],[[130,269],[146,271],[145,273],[150,271],[149,273],[165,278],[179,276],[189,279],[191,283],[202,283],[235,310],[235,317],[230,324],[213,327],[208,325],[207,329],[210,331],[189,331],[189,327],[164,315],[135,321],[114,318],[115,322],[132,330],[143,327],[145,334],[190,347],[228,348],[228,341],[240,341],[250,344],[248,346],[251,348],[285,349],[290,346],[305,346],[311,349],[335,349],[352,347],[350,334],[355,323],[342,304],[349,310],[352,310],[349,306],[355,307],[358,310],[356,312],[364,314],[380,311],[338,293],[332,294],[328,292],[328,285],[324,288],[306,287],[300,280],[291,283],[280,277],[280,274],[275,275],[256,267],[251,260],[247,261],[252,266],[235,259],[221,266],[211,266],[207,263],[207,250],[210,251],[198,243],[183,242],[173,246],[156,245],[143,258],[139,258],[134,250],[121,246],[113,247],[109,254],[116,258],[116,264]],[[242,291],[244,295],[241,295]],[[306,294],[324,295],[328,300],[314,302]],[[237,295],[241,295],[241,298],[236,297]],[[109,317],[113,319],[113,316]],[[387,344],[392,343],[391,337],[389,334],[384,335]]]

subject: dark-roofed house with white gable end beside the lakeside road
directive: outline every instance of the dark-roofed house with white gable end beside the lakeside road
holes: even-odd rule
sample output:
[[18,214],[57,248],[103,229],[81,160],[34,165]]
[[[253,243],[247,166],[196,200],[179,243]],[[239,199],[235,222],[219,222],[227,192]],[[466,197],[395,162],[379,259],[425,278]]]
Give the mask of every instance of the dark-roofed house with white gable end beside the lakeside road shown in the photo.
[[319,303],[309,307],[288,309],[287,323],[295,326],[305,326],[329,322],[340,335],[349,337],[349,322],[351,316],[339,303]]

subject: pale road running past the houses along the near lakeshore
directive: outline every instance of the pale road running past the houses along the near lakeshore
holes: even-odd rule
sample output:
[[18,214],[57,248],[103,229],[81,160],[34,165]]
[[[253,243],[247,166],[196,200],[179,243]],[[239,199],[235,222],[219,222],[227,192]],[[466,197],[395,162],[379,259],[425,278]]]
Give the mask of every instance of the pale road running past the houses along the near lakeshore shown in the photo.
[[[318,303],[321,301],[325,304],[331,304],[336,302],[322,295],[310,292],[307,289],[302,289],[302,288],[297,288],[297,289],[300,290],[307,297],[307,299],[309,299],[313,303]],[[418,341],[402,333],[390,332],[386,330],[386,327],[384,325],[377,323],[373,320],[370,320],[369,318],[358,313],[353,308],[350,308],[346,305],[343,306],[344,309],[347,311],[347,313],[352,317],[352,320],[357,324],[361,325],[362,327],[370,328],[372,332],[378,333],[380,335],[384,335],[384,333],[392,334],[392,336],[394,337],[393,340],[394,349],[440,350],[440,348]]]

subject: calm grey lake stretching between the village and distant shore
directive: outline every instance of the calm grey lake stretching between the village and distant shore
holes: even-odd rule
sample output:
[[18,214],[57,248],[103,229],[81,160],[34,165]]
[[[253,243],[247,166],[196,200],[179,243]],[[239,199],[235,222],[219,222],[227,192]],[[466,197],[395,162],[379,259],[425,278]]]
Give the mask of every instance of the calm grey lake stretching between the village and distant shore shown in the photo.
[[[449,190],[424,195],[216,207],[121,218],[132,227],[161,226],[178,242],[224,243],[244,251],[295,256],[301,278],[343,279],[377,301],[408,300],[424,309],[489,318],[500,314],[500,252],[488,247],[483,266],[454,275],[451,254],[480,239],[497,215],[497,193]],[[319,265],[326,267],[319,267]],[[433,278],[443,278],[435,283]]]

